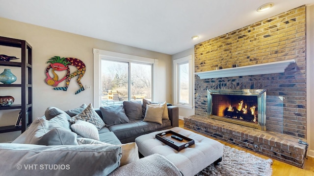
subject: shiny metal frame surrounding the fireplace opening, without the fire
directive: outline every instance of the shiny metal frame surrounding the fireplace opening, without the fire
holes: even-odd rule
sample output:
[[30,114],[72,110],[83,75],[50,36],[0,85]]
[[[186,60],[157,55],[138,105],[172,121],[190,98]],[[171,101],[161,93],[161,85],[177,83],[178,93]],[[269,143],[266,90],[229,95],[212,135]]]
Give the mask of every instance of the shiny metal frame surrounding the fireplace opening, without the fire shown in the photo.
[[[208,92],[208,117],[216,120],[226,121],[243,125],[262,131],[266,131],[266,89],[207,89]],[[258,101],[258,123],[250,123],[212,114],[212,95],[244,95],[257,96]]]

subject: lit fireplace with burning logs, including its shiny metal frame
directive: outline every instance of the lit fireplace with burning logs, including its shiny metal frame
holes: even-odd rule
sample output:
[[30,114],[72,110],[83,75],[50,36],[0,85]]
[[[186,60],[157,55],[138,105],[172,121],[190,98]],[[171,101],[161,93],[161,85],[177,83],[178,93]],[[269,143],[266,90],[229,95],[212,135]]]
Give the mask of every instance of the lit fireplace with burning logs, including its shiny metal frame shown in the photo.
[[266,130],[266,90],[208,89],[210,118]]

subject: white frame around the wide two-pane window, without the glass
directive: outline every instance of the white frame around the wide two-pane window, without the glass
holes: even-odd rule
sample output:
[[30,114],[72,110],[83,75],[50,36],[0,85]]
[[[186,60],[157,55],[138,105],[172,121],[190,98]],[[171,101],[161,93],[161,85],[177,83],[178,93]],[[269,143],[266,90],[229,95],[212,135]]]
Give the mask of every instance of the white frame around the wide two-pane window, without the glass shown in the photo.
[[[93,107],[99,108],[101,106],[102,99],[102,59],[112,60],[118,62],[128,62],[137,64],[151,64],[152,68],[152,101],[156,96],[156,80],[157,80],[157,67],[158,59],[151,59],[141,56],[117,53],[112,51],[101,50],[93,48],[94,54],[94,100]],[[129,69],[130,70],[130,69]],[[129,75],[130,77],[131,75]]]

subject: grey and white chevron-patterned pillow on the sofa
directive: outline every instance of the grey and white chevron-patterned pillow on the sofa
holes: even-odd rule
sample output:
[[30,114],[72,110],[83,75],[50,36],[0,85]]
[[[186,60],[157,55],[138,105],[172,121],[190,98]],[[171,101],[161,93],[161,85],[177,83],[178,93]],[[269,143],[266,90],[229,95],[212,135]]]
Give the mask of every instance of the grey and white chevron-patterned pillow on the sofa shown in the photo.
[[69,118],[68,121],[74,124],[76,120],[83,120],[83,121],[89,122],[95,125],[98,131],[105,126],[105,122],[94,110],[92,104],[89,104],[87,108],[83,110],[81,113],[79,113],[78,115],[75,115]]

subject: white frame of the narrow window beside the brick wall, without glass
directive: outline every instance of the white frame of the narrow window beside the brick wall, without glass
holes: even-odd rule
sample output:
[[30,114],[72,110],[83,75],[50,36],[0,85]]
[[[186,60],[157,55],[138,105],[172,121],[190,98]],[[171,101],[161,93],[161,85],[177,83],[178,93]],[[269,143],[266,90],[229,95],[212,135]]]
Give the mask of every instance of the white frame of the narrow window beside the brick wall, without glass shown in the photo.
[[[180,103],[180,69],[179,69],[179,66],[181,64],[186,64],[188,63],[188,82],[189,82],[189,103]],[[192,55],[189,55],[189,56],[185,56],[183,58],[180,58],[180,59],[175,59],[173,60],[173,73],[174,73],[174,84],[173,84],[173,101],[174,101],[174,104],[178,107],[183,107],[183,108],[189,108],[189,109],[192,109],[193,108],[193,102],[194,102],[194,99],[193,99],[193,92],[194,92],[194,89],[193,89],[193,83],[194,83],[194,63],[193,63],[193,57]]]

